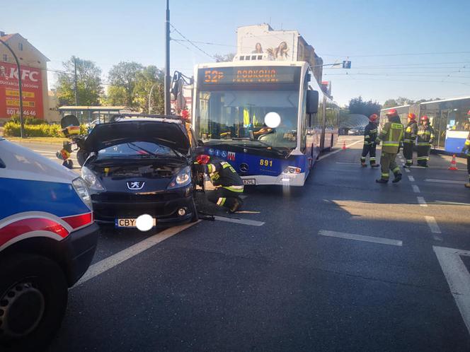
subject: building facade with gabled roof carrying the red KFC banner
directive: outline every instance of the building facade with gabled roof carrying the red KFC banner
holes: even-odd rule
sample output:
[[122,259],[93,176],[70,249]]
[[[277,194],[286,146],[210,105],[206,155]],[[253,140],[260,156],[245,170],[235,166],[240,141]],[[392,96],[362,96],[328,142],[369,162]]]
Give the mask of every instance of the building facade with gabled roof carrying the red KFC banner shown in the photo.
[[[20,61],[24,117],[53,118],[47,92],[47,61],[50,60],[18,33],[0,32],[0,40],[11,47]],[[16,61],[8,48],[0,45],[0,124],[13,116],[19,117],[19,108]]]

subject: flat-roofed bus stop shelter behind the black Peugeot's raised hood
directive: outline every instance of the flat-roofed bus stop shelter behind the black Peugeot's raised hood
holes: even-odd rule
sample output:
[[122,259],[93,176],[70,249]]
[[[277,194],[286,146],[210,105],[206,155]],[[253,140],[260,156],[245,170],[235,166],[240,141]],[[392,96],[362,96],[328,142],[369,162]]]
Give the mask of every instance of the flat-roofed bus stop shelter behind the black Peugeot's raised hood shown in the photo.
[[103,124],[113,115],[130,112],[130,108],[126,106],[61,106],[58,110],[61,118],[65,115],[75,115],[80,124]]

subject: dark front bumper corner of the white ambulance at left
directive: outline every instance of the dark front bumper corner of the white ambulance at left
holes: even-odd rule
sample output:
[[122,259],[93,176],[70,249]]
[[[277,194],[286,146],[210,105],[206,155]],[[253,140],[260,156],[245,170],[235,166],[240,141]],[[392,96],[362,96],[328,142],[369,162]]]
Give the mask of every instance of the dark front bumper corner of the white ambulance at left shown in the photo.
[[79,281],[90,266],[96,250],[100,228],[96,223],[76,230],[60,242],[69,286]]

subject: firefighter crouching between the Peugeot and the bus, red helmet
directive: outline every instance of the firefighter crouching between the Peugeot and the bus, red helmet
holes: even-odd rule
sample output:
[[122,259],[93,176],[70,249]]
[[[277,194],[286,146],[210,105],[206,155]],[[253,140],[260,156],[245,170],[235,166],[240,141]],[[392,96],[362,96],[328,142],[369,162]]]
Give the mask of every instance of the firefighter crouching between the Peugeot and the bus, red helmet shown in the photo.
[[243,181],[235,169],[226,161],[211,160],[210,156],[200,154],[196,157],[197,171],[208,173],[214,191],[207,194],[207,199],[218,206],[224,206],[230,213],[241,208],[243,201]]

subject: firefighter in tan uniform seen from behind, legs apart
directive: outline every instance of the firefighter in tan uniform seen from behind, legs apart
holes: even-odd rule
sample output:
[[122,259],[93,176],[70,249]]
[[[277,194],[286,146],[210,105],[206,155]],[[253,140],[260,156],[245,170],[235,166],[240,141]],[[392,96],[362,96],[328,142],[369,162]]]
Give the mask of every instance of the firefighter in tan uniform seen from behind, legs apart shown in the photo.
[[398,165],[396,165],[396,154],[400,150],[400,142],[403,139],[403,124],[401,124],[400,117],[395,109],[391,109],[386,113],[389,122],[384,124],[384,128],[380,131],[377,137],[377,144],[382,141],[382,154],[380,156],[380,164],[382,166],[382,175],[378,183],[389,182],[389,170],[394,172],[395,178],[392,182],[400,182],[401,172]]

